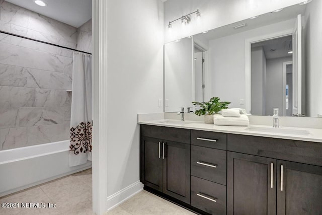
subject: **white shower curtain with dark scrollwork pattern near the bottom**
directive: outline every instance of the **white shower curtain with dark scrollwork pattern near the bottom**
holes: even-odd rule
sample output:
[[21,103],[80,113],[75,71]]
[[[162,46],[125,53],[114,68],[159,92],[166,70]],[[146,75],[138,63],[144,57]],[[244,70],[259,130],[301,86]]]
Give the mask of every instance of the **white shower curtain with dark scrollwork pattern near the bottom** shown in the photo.
[[92,56],[73,53],[69,166],[92,161]]

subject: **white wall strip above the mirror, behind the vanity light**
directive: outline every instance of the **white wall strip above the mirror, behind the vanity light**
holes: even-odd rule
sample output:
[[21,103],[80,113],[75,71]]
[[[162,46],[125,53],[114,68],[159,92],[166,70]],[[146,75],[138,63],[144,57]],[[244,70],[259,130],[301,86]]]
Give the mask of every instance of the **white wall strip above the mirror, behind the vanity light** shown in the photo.
[[[250,17],[265,14],[279,8],[285,8],[303,0],[257,0],[257,6],[246,5],[246,0],[168,0],[165,2],[165,41],[173,41],[178,38],[198,34],[206,30],[218,28],[227,24],[248,19]],[[319,0],[317,1],[319,2]],[[178,19],[199,9],[201,12],[200,22],[195,17],[188,27],[182,27],[180,20],[173,23],[172,32],[168,31],[170,21]]]

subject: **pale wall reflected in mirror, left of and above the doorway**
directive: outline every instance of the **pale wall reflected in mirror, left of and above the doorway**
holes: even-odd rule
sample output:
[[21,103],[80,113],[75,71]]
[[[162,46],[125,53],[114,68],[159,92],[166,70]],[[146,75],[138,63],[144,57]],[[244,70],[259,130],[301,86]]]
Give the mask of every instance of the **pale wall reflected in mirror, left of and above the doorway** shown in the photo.
[[209,41],[211,95],[230,101],[229,107],[245,108],[246,103],[239,105],[246,97],[245,40],[293,29],[294,23],[295,19],[287,20]]

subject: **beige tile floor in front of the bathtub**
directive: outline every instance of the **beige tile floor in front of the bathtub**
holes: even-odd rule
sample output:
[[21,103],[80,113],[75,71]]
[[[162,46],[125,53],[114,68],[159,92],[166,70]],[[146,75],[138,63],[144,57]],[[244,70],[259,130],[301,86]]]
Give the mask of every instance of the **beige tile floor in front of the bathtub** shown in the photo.
[[44,202],[56,208],[2,208],[4,215],[93,215],[92,169],[59,178],[0,198],[3,202]]

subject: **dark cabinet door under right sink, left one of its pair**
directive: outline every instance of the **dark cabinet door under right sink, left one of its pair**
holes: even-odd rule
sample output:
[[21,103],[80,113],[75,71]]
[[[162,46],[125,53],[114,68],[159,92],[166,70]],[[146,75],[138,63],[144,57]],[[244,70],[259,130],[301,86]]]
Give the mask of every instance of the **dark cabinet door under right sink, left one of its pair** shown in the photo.
[[276,160],[227,153],[227,214],[276,214]]

